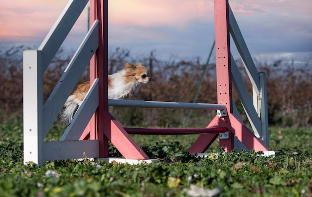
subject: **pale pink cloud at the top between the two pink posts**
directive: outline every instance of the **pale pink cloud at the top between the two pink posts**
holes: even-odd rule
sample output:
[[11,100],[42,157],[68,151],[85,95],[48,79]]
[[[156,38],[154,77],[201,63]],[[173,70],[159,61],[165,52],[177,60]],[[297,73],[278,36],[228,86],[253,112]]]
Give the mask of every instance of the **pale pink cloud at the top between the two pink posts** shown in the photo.
[[211,0],[111,0],[111,24],[183,25],[191,19],[213,20]]

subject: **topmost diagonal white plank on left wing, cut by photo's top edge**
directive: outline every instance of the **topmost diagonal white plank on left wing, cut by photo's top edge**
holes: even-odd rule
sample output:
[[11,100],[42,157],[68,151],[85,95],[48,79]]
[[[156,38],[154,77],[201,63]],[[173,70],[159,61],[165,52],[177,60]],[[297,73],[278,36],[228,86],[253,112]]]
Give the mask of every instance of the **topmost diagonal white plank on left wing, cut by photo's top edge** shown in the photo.
[[89,0],[69,0],[42,41],[38,48],[38,50],[42,50],[44,53],[42,59],[42,74],[50,64],[88,1]]

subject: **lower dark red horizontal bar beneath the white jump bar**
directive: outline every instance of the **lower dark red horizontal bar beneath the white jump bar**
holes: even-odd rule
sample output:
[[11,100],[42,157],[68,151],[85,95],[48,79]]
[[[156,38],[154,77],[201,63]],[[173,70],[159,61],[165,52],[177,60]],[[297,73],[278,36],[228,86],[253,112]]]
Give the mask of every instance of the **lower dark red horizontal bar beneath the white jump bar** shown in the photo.
[[124,128],[128,134],[137,135],[191,135],[191,134],[203,134],[203,133],[224,133],[228,131],[226,127],[216,128],[187,128],[187,129],[155,129],[155,128]]

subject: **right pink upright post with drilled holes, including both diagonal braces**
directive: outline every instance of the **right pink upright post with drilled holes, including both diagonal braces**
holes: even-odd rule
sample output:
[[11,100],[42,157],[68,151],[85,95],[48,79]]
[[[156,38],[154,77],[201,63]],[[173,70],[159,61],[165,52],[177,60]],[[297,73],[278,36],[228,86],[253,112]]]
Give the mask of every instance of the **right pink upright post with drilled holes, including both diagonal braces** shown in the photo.
[[[233,114],[228,0],[214,0],[214,20],[218,104],[226,105],[228,116],[216,116],[207,127],[228,128],[229,138],[219,141],[220,146],[227,152],[234,148],[234,135],[249,150],[268,151],[268,148]],[[205,152],[217,137],[218,134],[200,135],[188,152]]]

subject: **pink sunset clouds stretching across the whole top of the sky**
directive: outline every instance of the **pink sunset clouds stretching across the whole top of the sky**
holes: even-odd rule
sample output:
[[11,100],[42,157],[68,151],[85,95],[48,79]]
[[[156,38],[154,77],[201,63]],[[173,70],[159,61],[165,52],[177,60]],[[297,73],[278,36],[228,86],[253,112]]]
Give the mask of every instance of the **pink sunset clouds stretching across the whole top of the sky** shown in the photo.
[[[66,3],[67,0],[0,3],[0,41],[42,40]],[[231,0],[230,5],[234,14],[242,17],[265,15],[272,21],[277,16],[312,19],[311,0]],[[213,20],[213,0],[109,0],[110,24],[179,28],[193,21]]]

